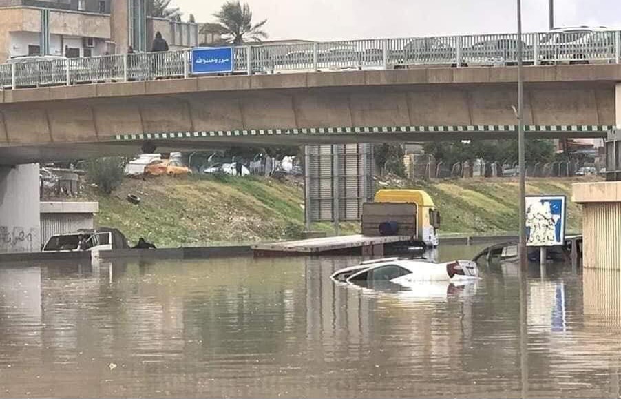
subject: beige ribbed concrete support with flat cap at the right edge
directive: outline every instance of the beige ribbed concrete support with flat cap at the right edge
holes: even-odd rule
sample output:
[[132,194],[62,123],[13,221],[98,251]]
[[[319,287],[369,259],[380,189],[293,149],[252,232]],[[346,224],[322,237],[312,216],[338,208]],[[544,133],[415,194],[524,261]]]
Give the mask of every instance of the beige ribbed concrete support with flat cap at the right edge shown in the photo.
[[621,270],[621,182],[573,185],[582,205],[582,264],[585,269]]

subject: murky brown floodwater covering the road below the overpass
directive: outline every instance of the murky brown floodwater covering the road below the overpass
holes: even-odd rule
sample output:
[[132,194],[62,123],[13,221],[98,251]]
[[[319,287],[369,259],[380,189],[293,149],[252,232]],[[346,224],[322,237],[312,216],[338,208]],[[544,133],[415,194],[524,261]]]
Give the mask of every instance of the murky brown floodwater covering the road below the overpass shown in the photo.
[[536,265],[521,301],[512,267],[463,290],[330,280],[357,261],[2,265],[0,396],[619,397],[618,274]]

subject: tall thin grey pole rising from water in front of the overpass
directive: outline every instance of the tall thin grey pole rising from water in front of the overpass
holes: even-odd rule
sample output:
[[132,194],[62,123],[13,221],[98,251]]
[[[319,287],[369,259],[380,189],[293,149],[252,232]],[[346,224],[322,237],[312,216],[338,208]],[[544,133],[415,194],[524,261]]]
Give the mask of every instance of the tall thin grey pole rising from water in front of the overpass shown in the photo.
[[522,0],[517,0],[518,4],[518,154],[520,163],[520,244],[518,252],[520,255],[520,267],[523,271],[527,269],[526,254],[526,182],[525,182],[525,160],[524,160],[524,87],[522,76],[523,48],[522,48]]

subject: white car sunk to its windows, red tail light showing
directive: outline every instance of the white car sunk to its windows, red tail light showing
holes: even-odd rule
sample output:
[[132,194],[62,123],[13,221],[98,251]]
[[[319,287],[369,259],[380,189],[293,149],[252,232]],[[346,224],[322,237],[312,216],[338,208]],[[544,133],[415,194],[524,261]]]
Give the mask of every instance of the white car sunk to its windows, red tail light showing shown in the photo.
[[470,260],[434,263],[425,259],[384,258],[337,270],[331,278],[357,285],[384,281],[408,287],[421,281],[476,280],[478,268]]

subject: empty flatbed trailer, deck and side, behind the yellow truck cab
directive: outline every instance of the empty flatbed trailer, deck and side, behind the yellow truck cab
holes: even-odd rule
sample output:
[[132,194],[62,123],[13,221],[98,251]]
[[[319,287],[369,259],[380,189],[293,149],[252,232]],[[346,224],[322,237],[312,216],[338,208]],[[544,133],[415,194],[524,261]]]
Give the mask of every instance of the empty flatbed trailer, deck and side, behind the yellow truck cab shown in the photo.
[[410,236],[369,237],[355,234],[352,236],[255,244],[252,249],[255,256],[317,255],[326,252],[354,254],[358,251],[362,255],[382,256],[385,244],[409,243],[411,239]]

